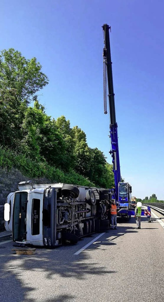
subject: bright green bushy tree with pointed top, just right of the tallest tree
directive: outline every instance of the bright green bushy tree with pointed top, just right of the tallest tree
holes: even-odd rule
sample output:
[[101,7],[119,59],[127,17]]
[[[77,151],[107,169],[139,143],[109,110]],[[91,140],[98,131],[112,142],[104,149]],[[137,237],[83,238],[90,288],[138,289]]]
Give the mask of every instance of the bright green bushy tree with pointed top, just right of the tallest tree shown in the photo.
[[45,108],[37,100],[34,108],[28,107],[26,110],[22,131],[22,152],[37,160],[42,156],[56,167],[64,165],[66,146],[63,137],[55,121],[47,116]]

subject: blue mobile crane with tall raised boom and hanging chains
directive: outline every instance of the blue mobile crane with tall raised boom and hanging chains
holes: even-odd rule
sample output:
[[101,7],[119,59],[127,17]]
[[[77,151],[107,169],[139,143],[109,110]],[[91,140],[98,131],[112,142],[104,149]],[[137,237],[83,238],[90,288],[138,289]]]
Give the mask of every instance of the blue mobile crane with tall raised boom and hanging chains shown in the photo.
[[[108,84],[108,101],[110,112],[110,139],[114,183],[115,188],[111,191],[112,198],[115,199],[117,205],[117,216],[126,217],[128,220],[131,215],[134,215],[134,210],[131,209],[131,192],[132,187],[128,182],[121,182],[120,159],[118,149],[118,131],[116,122],[116,112],[114,103],[113,75],[111,62],[111,49],[109,40],[109,30],[111,27],[108,24],[103,24],[104,48],[103,48],[103,63],[104,63],[104,113],[107,114],[107,84]],[[150,213],[150,215],[149,215]],[[151,217],[150,208],[142,210],[142,215]]]

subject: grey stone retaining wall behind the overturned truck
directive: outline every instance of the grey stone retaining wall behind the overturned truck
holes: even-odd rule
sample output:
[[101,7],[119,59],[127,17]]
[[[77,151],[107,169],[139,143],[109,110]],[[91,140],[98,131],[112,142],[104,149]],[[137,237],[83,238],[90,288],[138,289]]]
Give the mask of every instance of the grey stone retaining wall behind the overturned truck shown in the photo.
[[32,180],[33,184],[50,184],[47,178],[27,178],[17,169],[10,172],[0,167],[0,231],[5,230],[4,226],[4,204],[10,192],[18,190],[18,183],[25,180]]

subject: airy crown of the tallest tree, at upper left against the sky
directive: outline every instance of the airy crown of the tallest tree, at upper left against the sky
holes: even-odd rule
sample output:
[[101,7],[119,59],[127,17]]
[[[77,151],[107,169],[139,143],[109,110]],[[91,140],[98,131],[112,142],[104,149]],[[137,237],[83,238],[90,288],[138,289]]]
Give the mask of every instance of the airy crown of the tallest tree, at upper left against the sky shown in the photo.
[[26,59],[21,52],[9,48],[0,52],[0,90],[16,90],[19,100],[28,104],[36,92],[48,84],[47,76],[36,58]]

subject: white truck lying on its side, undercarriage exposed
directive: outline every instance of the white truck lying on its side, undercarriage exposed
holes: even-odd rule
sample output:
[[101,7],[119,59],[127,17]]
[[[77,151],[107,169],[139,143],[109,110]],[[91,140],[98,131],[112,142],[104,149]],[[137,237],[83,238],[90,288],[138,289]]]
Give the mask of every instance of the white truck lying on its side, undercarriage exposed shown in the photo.
[[[12,200],[7,199],[11,203],[13,241],[55,247],[108,230],[111,195],[107,189],[20,182]],[[8,229],[8,222],[5,227]]]

